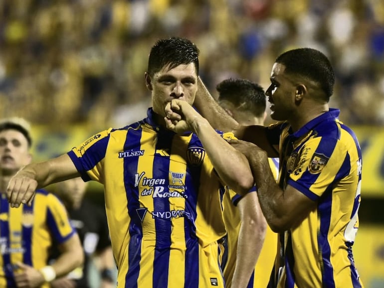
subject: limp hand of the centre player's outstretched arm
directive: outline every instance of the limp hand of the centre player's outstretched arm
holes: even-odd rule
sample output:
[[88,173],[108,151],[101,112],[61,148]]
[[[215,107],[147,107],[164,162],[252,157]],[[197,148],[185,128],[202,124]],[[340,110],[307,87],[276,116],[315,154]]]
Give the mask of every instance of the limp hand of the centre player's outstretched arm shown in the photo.
[[6,194],[10,207],[19,207],[20,204],[30,206],[37,187],[37,181],[28,173],[20,170],[8,183]]

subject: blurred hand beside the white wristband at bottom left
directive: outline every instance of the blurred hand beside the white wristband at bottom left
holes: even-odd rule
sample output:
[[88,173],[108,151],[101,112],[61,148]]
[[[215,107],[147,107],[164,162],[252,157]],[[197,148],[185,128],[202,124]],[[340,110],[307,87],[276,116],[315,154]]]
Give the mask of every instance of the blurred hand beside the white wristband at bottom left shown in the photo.
[[43,275],[32,266],[17,263],[19,269],[14,273],[14,280],[18,288],[36,288],[44,282]]

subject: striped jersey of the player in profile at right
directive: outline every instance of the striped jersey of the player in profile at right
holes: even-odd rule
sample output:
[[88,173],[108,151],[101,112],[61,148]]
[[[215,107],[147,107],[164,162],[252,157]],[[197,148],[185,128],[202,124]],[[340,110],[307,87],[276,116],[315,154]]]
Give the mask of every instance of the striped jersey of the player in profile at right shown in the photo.
[[[287,123],[267,129],[280,138],[279,185],[317,201],[317,209],[285,232],[284,269],[278,287],[363,287],[352,245],[359,227],[362,154],[340,111],[313,119],[293,133]],[[276,133],[277,132],[277,133]]]

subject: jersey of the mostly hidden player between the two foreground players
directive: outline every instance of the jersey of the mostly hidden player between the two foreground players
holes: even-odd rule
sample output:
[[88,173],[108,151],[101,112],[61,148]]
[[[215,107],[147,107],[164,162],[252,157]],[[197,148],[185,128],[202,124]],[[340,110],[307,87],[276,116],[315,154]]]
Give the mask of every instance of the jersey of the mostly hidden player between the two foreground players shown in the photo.
[[[279,172],[279,159],[269,158],[269,166],[271,167],[272,174],[277,181]],[[227,288],[231,287],[232,277],[236,265],[236,253],[237,253],[237,239],[240,231],[240,214],[236,207],[241,196],[236,194],[232,189],[225,187],[226,191],[223,196],[224,206],[224,222],[227,229],[227,235],[225,236],[225,252],[223,256],[222,268]],[[256,187],[250,190],[250,193],[256,192]],[[252,245],[252,243],[250,243]],[[269,226],[265,235],[263,248],[260,252],[255,269],[249,280],[247,288],[260,288],[267,287],[272,268],[275,263],[277,254],[277,233],[274,233]]]

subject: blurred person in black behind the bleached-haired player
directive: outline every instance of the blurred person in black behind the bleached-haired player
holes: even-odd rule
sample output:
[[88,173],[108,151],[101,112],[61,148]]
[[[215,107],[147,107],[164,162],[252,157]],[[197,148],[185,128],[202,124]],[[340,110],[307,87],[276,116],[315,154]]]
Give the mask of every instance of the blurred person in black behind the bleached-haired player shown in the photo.
[[[51,283],[52,288],[69,287],[90,288],[92,284],[89,272],[93,261],[99,274],[99,288],[112,288],[115,285],[116,266],[113,261],[105,210],[84,198],[89,182],[80,177],[61,181],[56,184],[56,195],[63,201],[70,222],[76,228],[84,249],[84,265],[71,271],[65,277]],[[56,259],[59,251],[53,247],[51,259]]]

